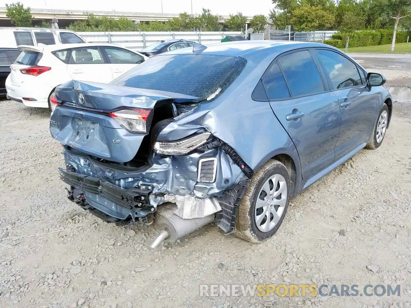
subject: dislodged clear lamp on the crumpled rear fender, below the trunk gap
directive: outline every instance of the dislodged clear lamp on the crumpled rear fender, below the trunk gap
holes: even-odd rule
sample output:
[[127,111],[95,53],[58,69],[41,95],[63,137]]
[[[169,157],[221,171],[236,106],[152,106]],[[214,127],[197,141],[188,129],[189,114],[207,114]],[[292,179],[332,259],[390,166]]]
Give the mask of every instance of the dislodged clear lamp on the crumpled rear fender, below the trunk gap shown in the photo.
[[180,155],[187,154],[195,148],[203,145],[207,142],[208,137],[211,133],[200,133],[198,135],[177,141],[171,142],[156,142],[154,144],[154,150],[158,154],[166,155]]

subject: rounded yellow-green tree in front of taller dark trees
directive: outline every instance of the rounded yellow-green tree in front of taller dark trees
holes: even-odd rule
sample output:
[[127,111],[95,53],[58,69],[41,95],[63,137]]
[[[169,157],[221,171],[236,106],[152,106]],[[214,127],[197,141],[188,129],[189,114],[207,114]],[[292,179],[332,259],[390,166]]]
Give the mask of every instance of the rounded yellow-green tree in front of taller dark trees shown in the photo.
[[334,16],[322,7],[302,6],[295,9],[291,16],[291,25],[297,31],[326,30],[334,24]]

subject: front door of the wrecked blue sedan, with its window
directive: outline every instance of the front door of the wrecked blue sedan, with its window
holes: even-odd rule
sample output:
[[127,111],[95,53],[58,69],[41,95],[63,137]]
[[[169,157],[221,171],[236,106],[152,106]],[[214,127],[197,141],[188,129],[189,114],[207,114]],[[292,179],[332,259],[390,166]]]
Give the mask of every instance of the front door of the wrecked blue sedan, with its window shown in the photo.
[[329,49],[317,49],[316,53],[341,110],[341,130],[335,146],[338,159],[371,136],[378,94],[367,91],[357,65],[349,58]]

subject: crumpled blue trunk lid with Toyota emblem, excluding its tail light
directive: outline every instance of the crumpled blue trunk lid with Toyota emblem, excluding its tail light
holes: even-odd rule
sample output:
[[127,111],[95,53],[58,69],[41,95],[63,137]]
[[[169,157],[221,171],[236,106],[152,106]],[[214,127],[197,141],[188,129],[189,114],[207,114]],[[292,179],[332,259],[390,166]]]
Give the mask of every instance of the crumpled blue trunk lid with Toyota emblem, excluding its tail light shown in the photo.
[[[50,118],[53,138],[84,154],[118,163],[136,156],[143,138],[153,126],[159,101],[195,101],[188,95],[71,80],[56,88],[62,101]],[[115,110],[150,111],[146,132],[129,131],[110,114]],[[154,117],[156,118],[156,117]]]

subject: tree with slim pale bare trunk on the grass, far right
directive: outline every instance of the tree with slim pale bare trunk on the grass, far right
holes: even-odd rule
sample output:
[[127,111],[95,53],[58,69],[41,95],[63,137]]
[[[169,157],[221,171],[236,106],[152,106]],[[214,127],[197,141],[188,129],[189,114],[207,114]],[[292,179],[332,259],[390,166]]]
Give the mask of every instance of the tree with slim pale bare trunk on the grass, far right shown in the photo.
[[402,18],[411,15],[411,0],[374,0],[371,5],[381,14],[385,13],[395,19],[393,41],[391,43],[391,51],[394,51],[398,24]]

